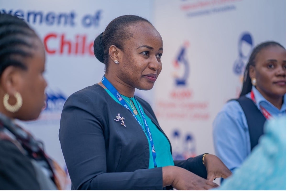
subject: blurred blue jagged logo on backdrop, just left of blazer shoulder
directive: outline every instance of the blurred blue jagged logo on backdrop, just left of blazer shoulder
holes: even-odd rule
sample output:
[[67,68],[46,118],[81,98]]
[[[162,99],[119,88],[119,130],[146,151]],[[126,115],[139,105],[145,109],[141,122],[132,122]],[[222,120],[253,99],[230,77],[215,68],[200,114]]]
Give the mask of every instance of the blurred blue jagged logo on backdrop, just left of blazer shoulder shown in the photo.
[[54,91],[48,91],[46,92],[46,102],[47,106],[44,111],[62,111],[65,101],[67,100],[67,97],[60,91],[54,92]]

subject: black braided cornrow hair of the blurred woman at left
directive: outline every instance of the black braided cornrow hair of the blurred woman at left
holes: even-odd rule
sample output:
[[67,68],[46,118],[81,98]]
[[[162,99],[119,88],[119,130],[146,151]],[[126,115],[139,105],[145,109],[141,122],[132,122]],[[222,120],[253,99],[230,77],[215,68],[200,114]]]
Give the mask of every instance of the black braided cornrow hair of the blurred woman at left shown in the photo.
[[33,45],[29,38],[37,37],[35,31],[22,19],[0,14],[0,75],[10,65],[27,69],[22,58],[31,57],[27,48]]

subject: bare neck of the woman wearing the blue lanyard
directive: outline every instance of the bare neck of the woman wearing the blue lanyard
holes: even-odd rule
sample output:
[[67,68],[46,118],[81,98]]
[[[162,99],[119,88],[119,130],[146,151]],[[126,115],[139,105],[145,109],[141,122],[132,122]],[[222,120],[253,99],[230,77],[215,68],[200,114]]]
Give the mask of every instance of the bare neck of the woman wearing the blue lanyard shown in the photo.
[[[117,91],[124,96],[132,98],[135,95],[135,88],[130,87],[127,83],[123,82],[118,77],[114,77],[113,75],[109,75],[105,73],[106,79],[117,89]],[[106,88],[103,84],[100,84],[102,87]]]

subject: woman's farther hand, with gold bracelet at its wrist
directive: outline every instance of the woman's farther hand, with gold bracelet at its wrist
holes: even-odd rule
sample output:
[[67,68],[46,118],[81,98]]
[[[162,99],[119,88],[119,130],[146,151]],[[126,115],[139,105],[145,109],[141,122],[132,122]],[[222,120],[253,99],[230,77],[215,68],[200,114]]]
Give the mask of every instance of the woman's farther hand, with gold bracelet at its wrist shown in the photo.
[[214,178],[219,177],[227,178],[232,174],[223,162],[213,154],[206,154],[203,162],[207,171],[207,180],[213,181]]

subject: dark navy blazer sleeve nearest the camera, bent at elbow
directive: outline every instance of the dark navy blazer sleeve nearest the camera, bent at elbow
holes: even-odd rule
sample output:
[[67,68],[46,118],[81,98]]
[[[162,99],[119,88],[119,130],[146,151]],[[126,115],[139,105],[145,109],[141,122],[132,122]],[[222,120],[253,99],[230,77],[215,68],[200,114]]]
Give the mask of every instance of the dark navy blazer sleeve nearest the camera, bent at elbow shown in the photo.
[[102,103],[104,98],[95,99],[88,93],[76,92],[65,102],[61,115],[59,140],[72,189],[162,189],[162,168],[107,172],[104,136],[107,132],[103,125],[107,122],[102,117],[106,105]]

